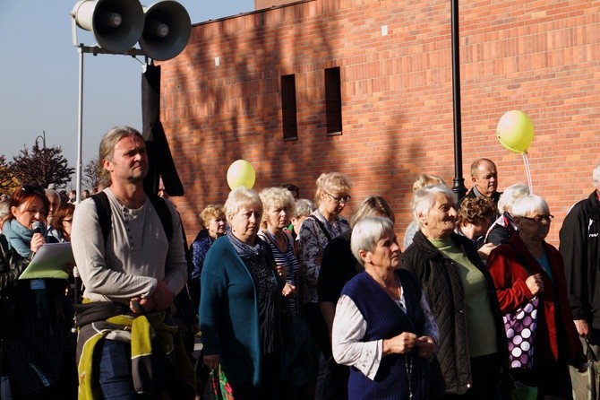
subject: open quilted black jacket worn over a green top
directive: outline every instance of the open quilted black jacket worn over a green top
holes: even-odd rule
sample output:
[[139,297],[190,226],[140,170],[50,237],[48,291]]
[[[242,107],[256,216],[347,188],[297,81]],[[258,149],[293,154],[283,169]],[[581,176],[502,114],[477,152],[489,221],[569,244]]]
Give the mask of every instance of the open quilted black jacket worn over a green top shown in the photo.
[[[454,241],[467,258],[484,274],[490,291],[493,314],[496,319],[498,349],[508,364],[508,348],[500,305],[493,280],[477,255],[476,248],[465,237],[452,233]],[[423,232],[417,231],[413,244],[402,255],[402,268],[412,271],[421,281],[435,322],[440,328],[437,357],[446,384],[446,393],[462,395],[471,386],[465,302],[457,265],[444,258]]]

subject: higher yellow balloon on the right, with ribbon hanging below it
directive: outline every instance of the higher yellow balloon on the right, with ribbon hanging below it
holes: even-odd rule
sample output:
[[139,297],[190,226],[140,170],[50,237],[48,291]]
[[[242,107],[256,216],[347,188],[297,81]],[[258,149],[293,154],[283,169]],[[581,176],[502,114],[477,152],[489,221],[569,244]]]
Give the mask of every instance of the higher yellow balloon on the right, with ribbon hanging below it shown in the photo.
[[534,124],[526,113],[513,109],[500,118],[496,135],[502,147],[509,152],[527,154],[534,140]]

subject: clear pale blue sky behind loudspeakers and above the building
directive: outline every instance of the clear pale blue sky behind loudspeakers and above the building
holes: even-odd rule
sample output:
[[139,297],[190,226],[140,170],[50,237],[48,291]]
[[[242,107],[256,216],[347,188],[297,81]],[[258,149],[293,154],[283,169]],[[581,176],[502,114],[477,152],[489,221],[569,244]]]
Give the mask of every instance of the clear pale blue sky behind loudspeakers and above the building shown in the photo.
[[[0,0],[0,155],[13,160],[46,133],[47,146],[61,146],[77,162],[79,54],[71,17],[76,0]],[[141,1],[150,5],[155,1]],[[253,0],[179,0],[192,23],[252,11]],[[86,46],[95,39],[77,30]],[[138,61],[139,60],[139,61]],[[141,130],[143,57],[85,54],[83,57],[82,163],[98,152],[101,136],[116,125]],[[38,139],[39,140],[39,139]],[[39,141],[41,145],[41,141]],[[73,174],[73,186],[75,176]]]

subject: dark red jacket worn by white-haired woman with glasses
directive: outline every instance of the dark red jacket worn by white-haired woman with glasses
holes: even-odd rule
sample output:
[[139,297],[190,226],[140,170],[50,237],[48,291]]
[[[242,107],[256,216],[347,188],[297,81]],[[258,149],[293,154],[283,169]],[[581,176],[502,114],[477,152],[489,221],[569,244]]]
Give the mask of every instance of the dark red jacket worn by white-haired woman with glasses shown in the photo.
[[[553,280],[544,272],[544,268],[536,258],[529,253],[525,243],[520,239],[519,231],[512,235],[507,243],[492,251],[487,267],[496,286],[502,313],[519,309],[534,297],[525,283],[529,274],[519,260],[525,260],[530,274],[542,275],[544,291],[538,294],[540,310],[536,327],[534,360],[536,363],[547,365],[557,361],[560,352],[561,359],[578,366],[586,362],[586,356],[570,312],[561,253],[545,241],[544,250],[552,269]],[[557,335],[557,326],[563,335]]]

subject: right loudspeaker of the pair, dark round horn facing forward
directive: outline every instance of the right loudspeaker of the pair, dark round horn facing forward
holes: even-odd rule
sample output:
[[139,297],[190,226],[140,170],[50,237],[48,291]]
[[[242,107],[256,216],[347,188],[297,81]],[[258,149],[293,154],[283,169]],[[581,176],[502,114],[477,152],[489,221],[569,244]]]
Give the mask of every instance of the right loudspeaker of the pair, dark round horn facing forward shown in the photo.
[[164,61],[181,53],[192,32],[192,22],[184,6],[166,0],[144,7],[144,12],[140,47],[146,55]]

